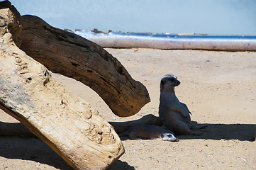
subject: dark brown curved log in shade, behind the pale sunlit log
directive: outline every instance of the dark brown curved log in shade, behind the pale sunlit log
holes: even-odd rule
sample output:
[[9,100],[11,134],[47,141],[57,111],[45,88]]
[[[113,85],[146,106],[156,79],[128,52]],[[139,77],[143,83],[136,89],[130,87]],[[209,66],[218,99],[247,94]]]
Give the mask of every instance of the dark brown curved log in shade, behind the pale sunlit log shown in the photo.
[[52,72],[81,81],[96,91],[114,114],[126,117],[150,101],[148,91],[101,46],[36,16],[22,16],[21,50]]

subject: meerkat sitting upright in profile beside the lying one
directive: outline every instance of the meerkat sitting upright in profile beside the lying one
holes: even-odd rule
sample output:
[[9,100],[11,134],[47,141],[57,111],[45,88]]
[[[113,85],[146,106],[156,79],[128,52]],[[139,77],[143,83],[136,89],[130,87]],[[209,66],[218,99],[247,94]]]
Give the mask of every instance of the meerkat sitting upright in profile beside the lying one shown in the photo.
[[167,129],[172,130],[174,135],[201,135],[201,131],[191,129],[205,128],[204,125],[191,123],[191,112],[187,105],[179,102],[175,95],[174,87],[180,82],[173,74],[166,74],[160,82],[160,105],[159,118]]

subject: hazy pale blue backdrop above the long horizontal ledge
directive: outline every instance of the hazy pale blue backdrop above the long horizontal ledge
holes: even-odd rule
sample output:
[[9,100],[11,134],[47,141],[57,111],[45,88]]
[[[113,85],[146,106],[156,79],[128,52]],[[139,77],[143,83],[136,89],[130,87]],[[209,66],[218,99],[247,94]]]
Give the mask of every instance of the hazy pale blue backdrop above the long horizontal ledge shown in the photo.
[[10,0],[57,28],[256,35],[256,0]]

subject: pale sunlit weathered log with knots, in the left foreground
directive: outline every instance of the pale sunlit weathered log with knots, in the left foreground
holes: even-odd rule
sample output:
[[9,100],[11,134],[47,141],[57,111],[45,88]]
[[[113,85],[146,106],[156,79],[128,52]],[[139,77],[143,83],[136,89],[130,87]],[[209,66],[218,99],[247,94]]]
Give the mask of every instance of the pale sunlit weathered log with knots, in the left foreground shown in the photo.
[[113,127],[16,46],[19,13],[9,1],[0,7],[0,109],[74,169],[106,169],[124,152]]

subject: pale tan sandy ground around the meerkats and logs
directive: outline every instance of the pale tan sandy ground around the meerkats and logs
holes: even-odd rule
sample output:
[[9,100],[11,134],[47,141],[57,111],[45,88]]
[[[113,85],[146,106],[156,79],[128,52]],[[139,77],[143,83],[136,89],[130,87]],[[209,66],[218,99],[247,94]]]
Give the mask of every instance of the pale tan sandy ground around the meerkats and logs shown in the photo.
[[[160,78],[172,73],[181,81],[177,97],[191,119],[207,125],[201,136],[178,136],[179,142],[124,140],[126,153],[117,169],[256,169],[256,52],[106,49],[148,89],[151,102],[128,118],[118,118],[104,101],[79,81],[54,76],[84,98],[107,121],[158,115]],[[16,122],[4,112],[0,121]],[[0,137],[0,169],[71,169],[37,138]]]

